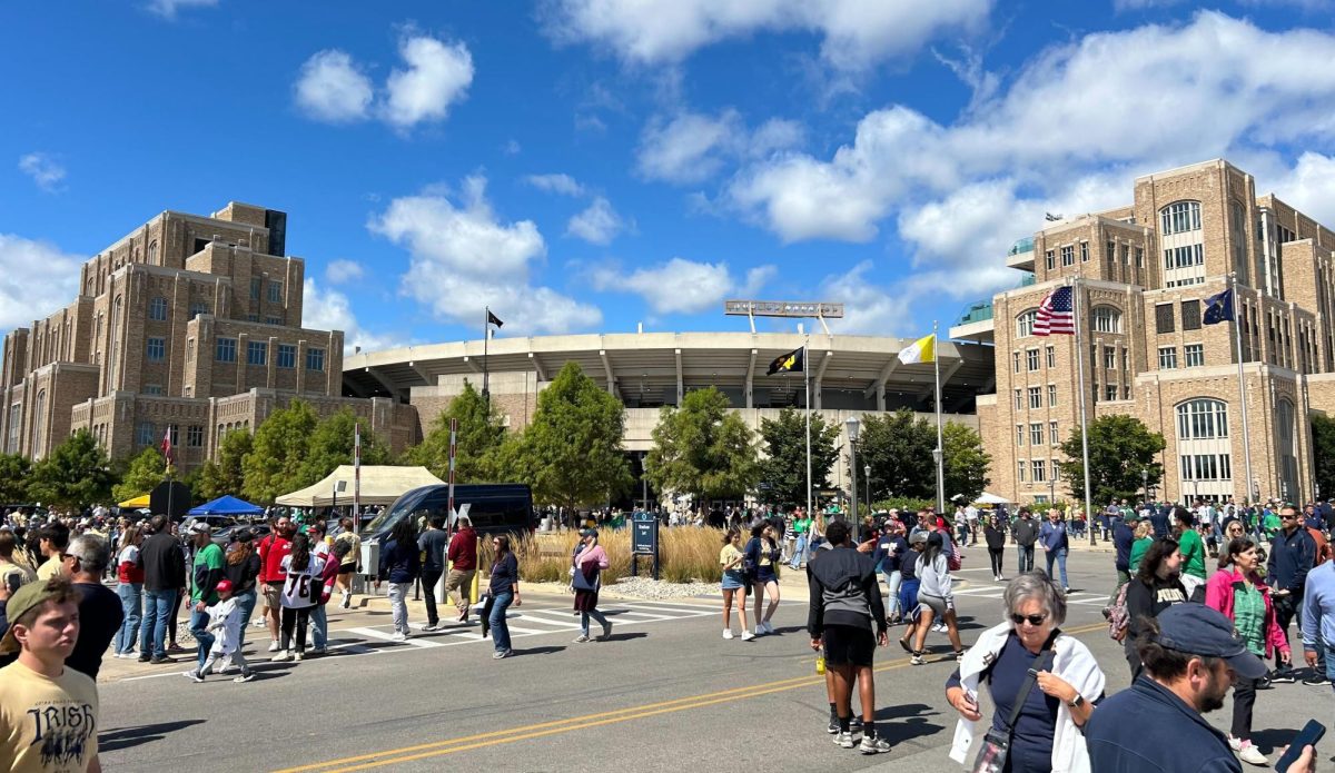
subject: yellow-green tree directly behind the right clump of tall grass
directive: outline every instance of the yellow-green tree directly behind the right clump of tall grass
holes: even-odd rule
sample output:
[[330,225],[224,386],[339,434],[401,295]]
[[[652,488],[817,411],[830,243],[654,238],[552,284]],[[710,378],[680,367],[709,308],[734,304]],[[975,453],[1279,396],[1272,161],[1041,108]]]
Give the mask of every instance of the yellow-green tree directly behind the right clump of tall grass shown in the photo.
[[[659,491],[690,494],[698,502],[741,498],[760,481],[754,435],[724,393],[714,387],[688,393],[681,407],[659,411],[645,475]],[[805,467],[804,461],[801,485]]]

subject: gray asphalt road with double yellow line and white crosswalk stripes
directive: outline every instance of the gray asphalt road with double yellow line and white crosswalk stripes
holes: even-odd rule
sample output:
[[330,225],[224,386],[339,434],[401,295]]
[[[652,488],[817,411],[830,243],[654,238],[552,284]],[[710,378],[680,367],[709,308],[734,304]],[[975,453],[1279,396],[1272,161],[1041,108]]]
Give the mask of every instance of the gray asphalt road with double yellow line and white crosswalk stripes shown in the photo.
[[[1013,554],[1007,559],[1013,573]],[[972,550],[960,574],[969,581],[957,597],[967,645],[1001,618],[1001,583],[980,562],[985,554]],[[1099,613],[1113,582],[1112,557],[1077,551],[1069,573],[1064,627],[1091,646],[1109,693],[1121,690],[1125,661]],[[717,602],[708,598],[605,599],[615,627],[611,641],[593,643],[571,642],[578,621],[569,607],[569,597],[526,591],[511,629],[531,633],[519,633],[517,657],[502,661],[491,660],[489,641],[473,638],[475,627],[423,634],[409,645],[383,641],[387,611],[375,610],[351,621],[355,631],[339,630],[334,619],[331,638],[347,642],[338,654],[263,662],[251,684],[212,677],[198,685],[175,672],[103,682],[103,766],[960,770],[947,758],[956,714],[943,685],[955,664],[943,634],[929,637],[940,660],[926,666],[910,666],[893,643],[880,650],[877,722],[893,750],[864,757],[834,746],[825,732],[824,680],[814,674],[802,629],[804,599],[785,601],[778,634],[753,642],[722,639]],[[1330,718],[1332,702],[1330,688],[1263,692],[1254,738],[1266,752],[1278,749],[1308,717]],[[1211,716],[1216,726],[1228,726],[1228,712],[1226,705]]]

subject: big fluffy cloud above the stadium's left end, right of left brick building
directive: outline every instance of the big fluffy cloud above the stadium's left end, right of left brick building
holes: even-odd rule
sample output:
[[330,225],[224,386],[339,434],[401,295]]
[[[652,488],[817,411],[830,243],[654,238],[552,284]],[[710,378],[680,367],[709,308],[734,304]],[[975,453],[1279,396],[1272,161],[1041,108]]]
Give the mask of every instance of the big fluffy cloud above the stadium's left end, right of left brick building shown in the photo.
[[402,196],[368,228],[410,255],[402,292],[438,319],[475,324],[483,306],[506,332],[566,332],[602,322],[594,307],[531,283],[546,244],[531,220],[502,223],[486,200],[486,179],[469,178],[451,198],[438,192]]

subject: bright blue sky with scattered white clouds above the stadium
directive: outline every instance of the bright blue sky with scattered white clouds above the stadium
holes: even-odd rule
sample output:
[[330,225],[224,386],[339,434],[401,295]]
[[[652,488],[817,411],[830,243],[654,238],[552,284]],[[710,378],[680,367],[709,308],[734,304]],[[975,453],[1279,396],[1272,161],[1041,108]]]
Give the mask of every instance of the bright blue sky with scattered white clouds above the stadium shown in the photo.
[[[97,0],[0,9],[0,328],[162,210],[288,212],[310,327],[383,348],[920,335],[1044,212],[1227,156],[1335,226],[1330,0]],[[772,323],[768,328],[792,328]]]

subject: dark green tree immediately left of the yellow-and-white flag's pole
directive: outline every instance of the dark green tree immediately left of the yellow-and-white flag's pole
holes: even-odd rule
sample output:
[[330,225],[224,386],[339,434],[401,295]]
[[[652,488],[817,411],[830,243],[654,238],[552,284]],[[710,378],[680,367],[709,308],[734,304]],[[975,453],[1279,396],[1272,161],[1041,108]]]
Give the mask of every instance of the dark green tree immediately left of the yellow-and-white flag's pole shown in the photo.
[[862,467],[870,465],[873,502],[890,497],[936,501],[932,449],[936,449],[936,427],[913,411],[869,415],[862,419],[857,439],[858,479],[865,474]]

